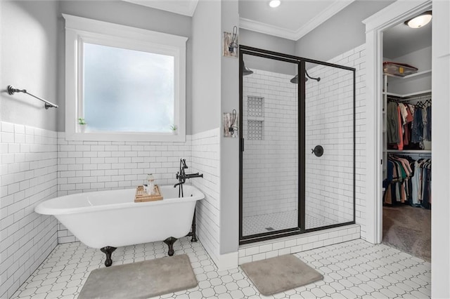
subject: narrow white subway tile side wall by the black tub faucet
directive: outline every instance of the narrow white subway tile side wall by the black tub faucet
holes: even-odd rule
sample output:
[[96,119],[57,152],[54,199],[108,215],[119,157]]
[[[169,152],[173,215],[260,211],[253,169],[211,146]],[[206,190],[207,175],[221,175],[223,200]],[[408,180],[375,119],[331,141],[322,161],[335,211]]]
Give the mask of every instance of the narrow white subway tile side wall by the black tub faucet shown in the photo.
[[220,208],[220,128],[192,135],[191,171],[203,173],[203,179],[191,179],[191,184],[202,190],[205,199],[195,208],[197,237],[214,263],[219,261]]

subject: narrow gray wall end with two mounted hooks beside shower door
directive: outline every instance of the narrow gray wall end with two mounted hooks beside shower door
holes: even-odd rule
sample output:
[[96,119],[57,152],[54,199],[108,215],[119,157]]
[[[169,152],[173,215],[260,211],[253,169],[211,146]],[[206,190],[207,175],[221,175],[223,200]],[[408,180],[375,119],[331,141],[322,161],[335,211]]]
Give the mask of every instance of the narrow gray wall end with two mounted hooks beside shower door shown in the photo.
[[[239,24],[238,1],[221,1],[221,31]],[[240,32],[239,32],[240,34]],[[221,112],[239,114],[239,60],[221,57]],[[219,114],[217,117],[221,117]],[[223,132],[223,126],[221,126]],[[238,131],[240,135],[240,131]],[[221,136],[220,142],[220,254],[239,247],[239,140]]]

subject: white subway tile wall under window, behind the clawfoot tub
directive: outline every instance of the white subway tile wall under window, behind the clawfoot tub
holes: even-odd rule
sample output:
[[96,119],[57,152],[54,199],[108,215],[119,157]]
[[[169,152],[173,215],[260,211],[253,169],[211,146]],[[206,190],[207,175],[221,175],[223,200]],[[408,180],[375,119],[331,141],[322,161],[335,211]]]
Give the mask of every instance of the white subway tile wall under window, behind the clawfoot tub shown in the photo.
[[[180,159],[191,164],[191,135],[186,142],[67,141],[58,132],[58,196],[131,188],[153,173],[159,185],[175,184]],[[58,242],[75,241],[58,224]]]

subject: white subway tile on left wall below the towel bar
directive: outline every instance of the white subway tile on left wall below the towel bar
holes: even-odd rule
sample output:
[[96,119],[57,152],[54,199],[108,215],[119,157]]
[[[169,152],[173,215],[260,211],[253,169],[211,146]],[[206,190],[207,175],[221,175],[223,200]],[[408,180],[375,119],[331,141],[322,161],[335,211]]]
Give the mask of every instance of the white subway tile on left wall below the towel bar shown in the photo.
[[34,213],[57,194],[57,133],[1,122],[0,298],[10,298],[58,244],[56,218]]

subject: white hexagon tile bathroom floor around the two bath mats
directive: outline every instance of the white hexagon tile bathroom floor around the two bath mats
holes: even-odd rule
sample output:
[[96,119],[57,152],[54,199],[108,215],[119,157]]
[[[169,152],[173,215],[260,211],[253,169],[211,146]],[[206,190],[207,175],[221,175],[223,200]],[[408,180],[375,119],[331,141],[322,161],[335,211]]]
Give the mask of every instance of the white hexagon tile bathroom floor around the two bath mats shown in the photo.
[[[295,253],[323,274],[314,284],[264,297],[240,267],[218,272],[203,246],[188,238],[176,242],[175,254],[187,253],[198,286],[159,298],[430,298],[430,263],[384,244],[362,239]],[[113,265],[160,258],[162,242],[117,248]],[[79,242],[60,244],[20,286],[13,298],[77,298],[91,270],[104,254]]]

